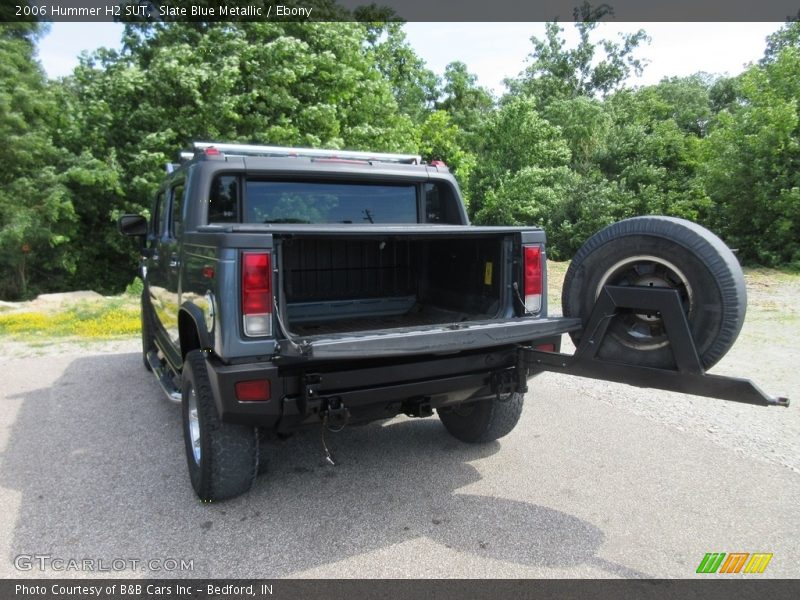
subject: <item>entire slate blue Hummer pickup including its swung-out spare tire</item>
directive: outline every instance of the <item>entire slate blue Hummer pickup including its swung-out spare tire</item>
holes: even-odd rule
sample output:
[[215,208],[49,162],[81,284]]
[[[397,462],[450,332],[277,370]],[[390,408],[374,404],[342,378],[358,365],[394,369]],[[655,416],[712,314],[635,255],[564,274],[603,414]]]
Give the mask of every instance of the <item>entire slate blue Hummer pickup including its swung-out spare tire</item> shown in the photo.
[[181,402],[203,500],[249,489],[270,432],[435,410],[459,440],[498,439],[547,370],[788,404],[705,373],[746,295],[734,255],[693,223],[598,232],[550,317],[544,232],[470,226],[441,163],[212,143],[183,156],[149,221],[119,227],[142,240],[144,363]]

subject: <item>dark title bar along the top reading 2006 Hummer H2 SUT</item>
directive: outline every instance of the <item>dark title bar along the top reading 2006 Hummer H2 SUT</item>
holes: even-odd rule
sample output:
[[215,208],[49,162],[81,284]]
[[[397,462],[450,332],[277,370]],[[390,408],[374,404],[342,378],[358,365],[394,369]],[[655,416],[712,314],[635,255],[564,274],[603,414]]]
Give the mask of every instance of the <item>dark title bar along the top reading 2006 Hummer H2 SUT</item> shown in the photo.
[[[782,22],[800,0],[6,0],[2,18],[83,21],[606,21]],[[10,14],[9,14],[10,13]]]

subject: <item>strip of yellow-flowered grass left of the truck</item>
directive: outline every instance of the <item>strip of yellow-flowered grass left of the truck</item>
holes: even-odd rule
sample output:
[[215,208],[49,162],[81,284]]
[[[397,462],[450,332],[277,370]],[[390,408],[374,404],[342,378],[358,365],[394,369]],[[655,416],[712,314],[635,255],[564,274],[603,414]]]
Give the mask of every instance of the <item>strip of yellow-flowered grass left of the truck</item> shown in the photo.
[[110,340],[138,335],[139,307],[125,298],[81,302],[55,311],[0,314],[0,335],[14,339],[37,337]]

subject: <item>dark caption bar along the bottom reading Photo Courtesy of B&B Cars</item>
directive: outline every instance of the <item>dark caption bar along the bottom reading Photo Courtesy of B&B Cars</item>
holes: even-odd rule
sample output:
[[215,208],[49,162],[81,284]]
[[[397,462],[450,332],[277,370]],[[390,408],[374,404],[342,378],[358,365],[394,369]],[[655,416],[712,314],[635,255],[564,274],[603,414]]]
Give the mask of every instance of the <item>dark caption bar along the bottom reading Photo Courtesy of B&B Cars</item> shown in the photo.
[[800,580],[11,579],[4,600],[789,600]]

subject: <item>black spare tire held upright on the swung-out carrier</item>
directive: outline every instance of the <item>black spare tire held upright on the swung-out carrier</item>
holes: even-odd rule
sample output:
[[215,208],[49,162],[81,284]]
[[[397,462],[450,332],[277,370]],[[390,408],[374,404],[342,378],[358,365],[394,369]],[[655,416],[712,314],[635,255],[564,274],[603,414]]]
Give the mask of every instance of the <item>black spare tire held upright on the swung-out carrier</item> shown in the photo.
[[[747,292],[733,252],[707,229],[673,217],[635,217],[589,238],[567,270],[564,316],[586,325],[604,285],[677,289],[703,366],[714,365],[736,341]],[[571,334],[577,345],[581,331]],[[658,314],[623,310],[609,324],[600,358],[675,368]]]

